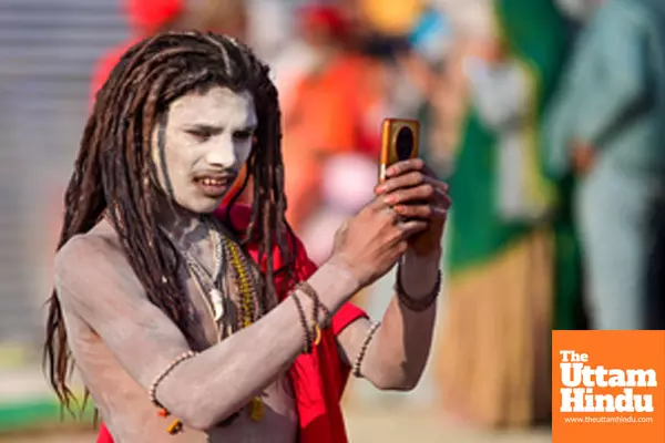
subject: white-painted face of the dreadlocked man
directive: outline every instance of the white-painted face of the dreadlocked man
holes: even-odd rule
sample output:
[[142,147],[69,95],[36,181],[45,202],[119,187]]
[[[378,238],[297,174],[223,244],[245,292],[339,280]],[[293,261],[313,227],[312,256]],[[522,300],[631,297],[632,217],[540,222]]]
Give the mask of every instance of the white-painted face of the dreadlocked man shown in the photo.
[[177,99],[152,134],[160,186],[185,209],[212,213],[249,157],[256,125],[249,92],[215,86]]

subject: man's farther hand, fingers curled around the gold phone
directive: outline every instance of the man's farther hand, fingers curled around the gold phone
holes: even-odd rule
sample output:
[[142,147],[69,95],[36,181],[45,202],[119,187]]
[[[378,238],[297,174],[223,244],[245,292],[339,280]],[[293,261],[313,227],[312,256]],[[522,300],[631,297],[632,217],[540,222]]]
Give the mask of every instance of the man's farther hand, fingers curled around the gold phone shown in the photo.
[[448,185],[437,178],[421,158],[398,162],[386,171],[386,181],[376,188],[403,218],[428,222],[428,228],[409,239],[417,256],[431,256],[441,249],[441,237],[450,208]]

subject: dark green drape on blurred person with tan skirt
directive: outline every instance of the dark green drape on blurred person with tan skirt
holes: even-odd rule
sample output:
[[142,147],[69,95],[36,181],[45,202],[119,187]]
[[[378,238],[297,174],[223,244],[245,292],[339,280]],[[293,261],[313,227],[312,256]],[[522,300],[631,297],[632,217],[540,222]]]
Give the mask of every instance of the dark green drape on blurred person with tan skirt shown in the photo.
[[[543,112],[552,96],[567,52],[565,20],[551,0],[497,0],[497,22],[509,56],[530,68],[535,84],[532,115],[536,136],[532,148],[538,164],[533,173],[556,190],[557,215],[548,228],[555,243],[554,329],[575,329],[581,306],[579,244],[569,210],[571,183],[553,183],[544,174],[540,132]],[[543,226],[510,223],[499,216],[495,192],[497,134],[483,125],[471,107],[462,128],[454,173],[450,177],[453,199],[448,264],[452,280],[494,260],[512,244]]]

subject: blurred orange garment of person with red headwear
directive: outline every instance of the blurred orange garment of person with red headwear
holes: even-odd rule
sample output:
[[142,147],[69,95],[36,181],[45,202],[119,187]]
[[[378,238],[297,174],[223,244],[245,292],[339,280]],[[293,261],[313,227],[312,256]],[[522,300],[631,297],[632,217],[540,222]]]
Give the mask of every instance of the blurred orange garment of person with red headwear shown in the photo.
[[291,103],[285,106],[287,217],[295,229],[318,205],[327,157],[350,152],[378,155],[380,125],[366,124],[380,99],[372,84],[374,69],[361,56],[337,55],[323,71],[298,81]]

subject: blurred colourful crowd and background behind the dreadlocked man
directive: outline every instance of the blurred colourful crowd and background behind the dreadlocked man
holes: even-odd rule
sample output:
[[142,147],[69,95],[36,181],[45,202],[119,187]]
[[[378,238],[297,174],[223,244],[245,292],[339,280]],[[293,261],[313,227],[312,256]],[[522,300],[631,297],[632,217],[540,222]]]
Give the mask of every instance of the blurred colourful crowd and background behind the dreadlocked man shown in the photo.
[[[0,433],[53,414],[42,305],[94,92],[132,42],[190,28],[272,66],[288,218],[315,261],[372,197],[382,119],[418,119],[450,184],[426,380],[354,383],[361,410],[546,424],[552,329],[665,329],[662,0],[0,0]],[[392,281],[357,301],[379,316]]]

